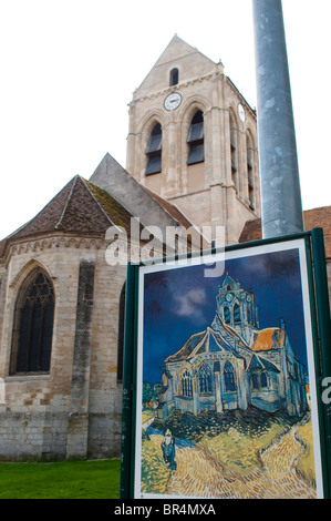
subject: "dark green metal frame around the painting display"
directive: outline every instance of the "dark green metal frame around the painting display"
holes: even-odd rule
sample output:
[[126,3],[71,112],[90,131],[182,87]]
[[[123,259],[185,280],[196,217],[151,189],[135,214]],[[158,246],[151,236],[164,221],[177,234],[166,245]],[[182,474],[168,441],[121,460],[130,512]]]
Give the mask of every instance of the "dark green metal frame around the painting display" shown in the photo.
[[[331,498],[331,403],[322,401],[323,381],[331,377],[331,324],[328,292],[328,277],[325,268],[325,252],[323,232],[314,228],[310,232],[265,239],[225,248],[227,254],[239,252],[245,256],[250,248],[301,241],[304,243],[308,272],[308,287],[310,300],[310,317],[313,338],[313,359],[317,396],[317,415],[320,436],[322,497]],[[201,257],[215,255],[217,251],[188,254],[186,257]],[[176,256],[176,260],[180,260]],[[162,258],[151,264],[162,265],[168,259]],[[136,392],[137,392],[137,358],[138,358],[138,284],[141,270],[146,263],[128,264],[126,280],[126,310],[125,310],[125,343],[123,370],[123,416],[122,416],[122,447],[121,447],[121,498],[135,498],[136,472]],[[331,400],[330,400],[331,401]],[[168,499],[172,499],[169,496]],[[184,498],[183,498],[184,499]],[[187,498],[189,499],[189,498]]]

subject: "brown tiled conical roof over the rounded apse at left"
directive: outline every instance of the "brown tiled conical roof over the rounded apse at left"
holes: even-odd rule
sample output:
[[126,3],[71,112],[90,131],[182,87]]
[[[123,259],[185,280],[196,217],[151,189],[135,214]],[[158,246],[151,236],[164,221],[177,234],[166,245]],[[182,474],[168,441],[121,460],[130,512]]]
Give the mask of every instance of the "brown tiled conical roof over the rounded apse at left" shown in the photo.
[[112,225],[130,231],[131,217],[107,192],[76,175],[35,217],[0,242],[0,257],[13,239],[52,232],[104,235]]

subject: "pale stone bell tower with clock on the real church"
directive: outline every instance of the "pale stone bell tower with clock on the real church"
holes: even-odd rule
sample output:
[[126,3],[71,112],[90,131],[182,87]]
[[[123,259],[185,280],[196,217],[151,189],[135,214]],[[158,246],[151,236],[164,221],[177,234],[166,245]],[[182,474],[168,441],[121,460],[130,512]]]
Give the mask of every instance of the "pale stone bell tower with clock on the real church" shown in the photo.
[[198,226],[238,242],[260,215],[256,113],[234,83],[175,35],[130,103],[126,170]]

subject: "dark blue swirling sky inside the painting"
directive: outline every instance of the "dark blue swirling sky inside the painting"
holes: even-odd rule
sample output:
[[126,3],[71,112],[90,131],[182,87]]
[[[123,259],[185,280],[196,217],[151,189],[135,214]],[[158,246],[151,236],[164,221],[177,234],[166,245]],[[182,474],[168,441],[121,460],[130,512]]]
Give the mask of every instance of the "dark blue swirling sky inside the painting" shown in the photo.
[[164,359],[190,335],[203,331],[216,311],[216,295],[226,274],[252,289],[259,327],[285,319],[296,356],[307,367],[303,303],[298,249],[226,260],[224,275],[207,278],[205,265],[145,275],[143,380],[161,381]]

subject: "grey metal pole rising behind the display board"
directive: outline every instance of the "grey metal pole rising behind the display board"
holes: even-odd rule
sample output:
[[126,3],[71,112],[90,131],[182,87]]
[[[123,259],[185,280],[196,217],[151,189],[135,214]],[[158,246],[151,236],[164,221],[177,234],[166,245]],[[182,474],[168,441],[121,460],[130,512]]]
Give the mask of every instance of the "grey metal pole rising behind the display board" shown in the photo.
[[303,232],[281,0],[252,0],[262,237]]

